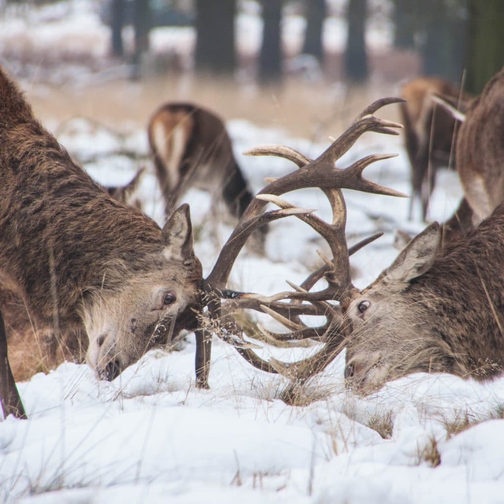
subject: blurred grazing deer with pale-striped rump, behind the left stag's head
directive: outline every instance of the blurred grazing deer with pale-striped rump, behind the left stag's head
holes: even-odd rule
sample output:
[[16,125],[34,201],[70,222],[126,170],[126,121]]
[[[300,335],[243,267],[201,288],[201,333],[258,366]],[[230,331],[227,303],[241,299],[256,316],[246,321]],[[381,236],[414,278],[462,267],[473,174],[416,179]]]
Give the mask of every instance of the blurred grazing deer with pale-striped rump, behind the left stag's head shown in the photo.
[[[243,215],[253,196],[220,117],[195,104],[166,103],[151,117],[148,136],[167,215],[193,186],[214,201],[222,195],[231,215]],[[260,243],[266,232],[256,233]]]

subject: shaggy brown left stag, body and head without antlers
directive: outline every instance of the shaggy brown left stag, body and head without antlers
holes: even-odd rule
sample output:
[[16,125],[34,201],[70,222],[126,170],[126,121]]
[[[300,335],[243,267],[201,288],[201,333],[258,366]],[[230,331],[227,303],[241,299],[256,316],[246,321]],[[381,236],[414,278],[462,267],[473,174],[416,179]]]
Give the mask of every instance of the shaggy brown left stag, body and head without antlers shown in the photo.
[[[187,205],[161,230],[117,202],[34,118],[2,70],[0,145],[3,288],[22,299],[34,327],[50,328],[56,340],[87,335],[76,346],[110,380],[195,326],[202,273]],[[6,319],[13,346],[16,325]]]

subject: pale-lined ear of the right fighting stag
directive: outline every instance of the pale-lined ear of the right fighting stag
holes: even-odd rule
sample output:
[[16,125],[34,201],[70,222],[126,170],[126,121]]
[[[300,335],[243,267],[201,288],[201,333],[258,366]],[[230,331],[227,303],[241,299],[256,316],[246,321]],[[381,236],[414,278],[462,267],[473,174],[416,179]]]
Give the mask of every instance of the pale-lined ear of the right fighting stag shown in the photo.
[[385,279],[408,283],[423,275],[434,263],[441,244],[439,224],[433,222],[416,235],[385,271]]

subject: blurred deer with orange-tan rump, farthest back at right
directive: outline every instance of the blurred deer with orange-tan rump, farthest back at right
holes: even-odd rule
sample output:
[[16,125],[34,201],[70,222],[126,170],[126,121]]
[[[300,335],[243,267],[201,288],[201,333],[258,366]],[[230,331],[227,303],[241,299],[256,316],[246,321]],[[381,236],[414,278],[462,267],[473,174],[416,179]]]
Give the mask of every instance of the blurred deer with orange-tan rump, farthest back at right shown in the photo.
[[402,86],[401,117],[404,124],[406,152],[411,165],[411,200],[408,219],[413,206],[420,199],[422,220],[425,220],[429,198],[434,190],[436,171],[442,166],[455,166],[456,121],[443,107],[437,107],[432,95],[440,95],[457,106],[468,96],[444,79],[420,77]]

